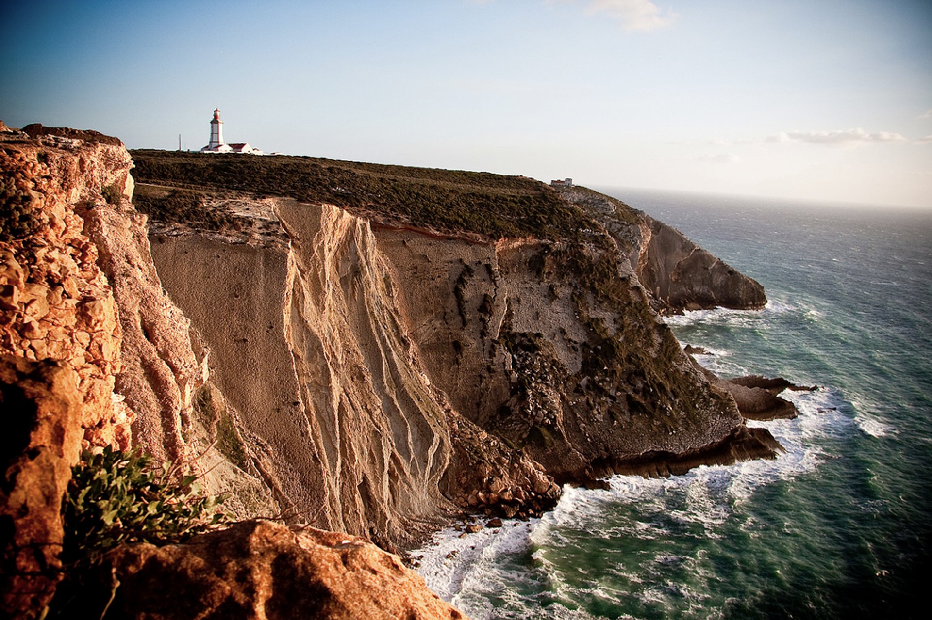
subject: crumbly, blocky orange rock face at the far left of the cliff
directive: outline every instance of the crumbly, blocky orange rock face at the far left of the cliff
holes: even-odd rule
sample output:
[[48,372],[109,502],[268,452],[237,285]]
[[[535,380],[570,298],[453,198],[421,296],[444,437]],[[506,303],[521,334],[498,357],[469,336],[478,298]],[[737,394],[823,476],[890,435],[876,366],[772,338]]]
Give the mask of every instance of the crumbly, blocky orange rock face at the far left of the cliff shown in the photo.
[[[111,139],[113,140],[113,139]],[[119,145],[0,133],[0,353],[75,370],[84,445],[130,445],[132,411],[114,398],[121,329],[113,290],[75,205],[123,200],[130,156]]]

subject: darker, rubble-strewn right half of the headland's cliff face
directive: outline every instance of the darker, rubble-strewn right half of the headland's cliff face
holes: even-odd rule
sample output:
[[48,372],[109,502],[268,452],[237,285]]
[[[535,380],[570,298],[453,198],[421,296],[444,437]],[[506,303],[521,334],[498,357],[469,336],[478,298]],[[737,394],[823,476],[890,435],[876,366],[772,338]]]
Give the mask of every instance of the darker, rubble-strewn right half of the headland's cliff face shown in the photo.
[[733,400],[681,352],[613,247],[377,238],[432,384],[557,481],[663,473],[745,437]]

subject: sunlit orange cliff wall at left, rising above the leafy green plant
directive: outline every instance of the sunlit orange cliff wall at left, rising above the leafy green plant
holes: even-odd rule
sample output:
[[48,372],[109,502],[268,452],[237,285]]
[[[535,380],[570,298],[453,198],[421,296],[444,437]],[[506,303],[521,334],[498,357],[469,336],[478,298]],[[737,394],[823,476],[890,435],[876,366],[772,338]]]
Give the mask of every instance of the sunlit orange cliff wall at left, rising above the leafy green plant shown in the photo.
[[162,289],[122,143],[37,125],[0,142],[5,206],[28,223],[0,239],[0,351],[77,371],[84,447],[139,446],[233,492],[240,516],[280,513],[254,467],[221,450],[245,450],[235,429],[217,441],[222,396],[197,414],[209,351]]

